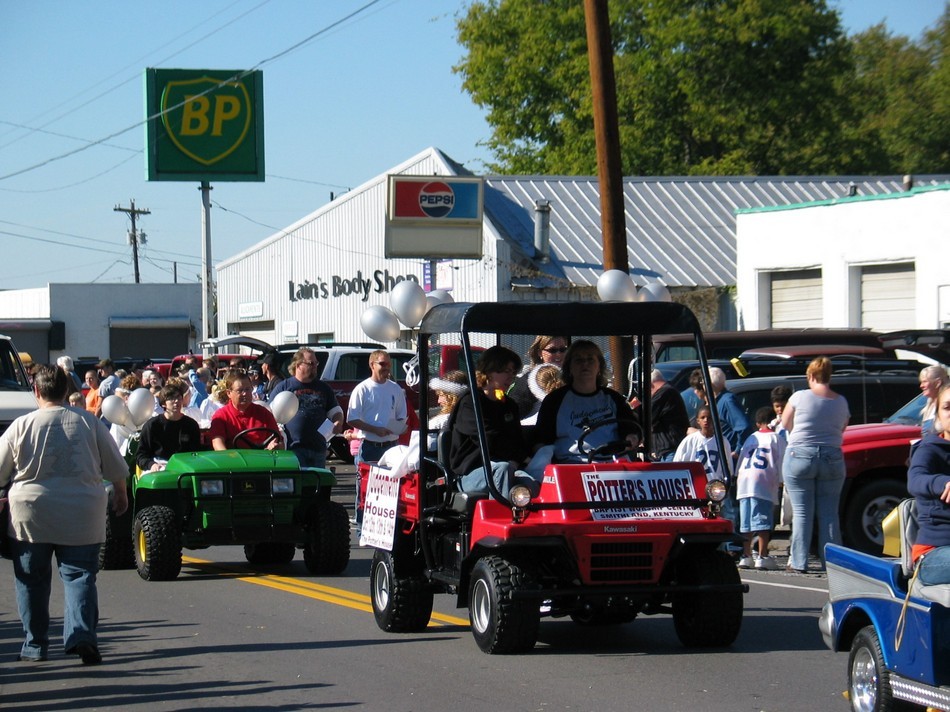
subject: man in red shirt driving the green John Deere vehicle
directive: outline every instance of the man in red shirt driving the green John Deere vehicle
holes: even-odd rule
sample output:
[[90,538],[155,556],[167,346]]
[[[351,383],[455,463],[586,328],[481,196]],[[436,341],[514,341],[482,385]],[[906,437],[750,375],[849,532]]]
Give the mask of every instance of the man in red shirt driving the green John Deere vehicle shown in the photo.
[[[224,382],[228,389],[228,402],[211,416],[211,447],[228,450],[256,445],[267,450],[283,449],[284,441],[277,428],[277,420],[270,410],[254,402],[251,381],[247,375],[243,371],[229,371]],[[267,428],[270,432],[258,430],[234,442],[235,435],[251,428]]]

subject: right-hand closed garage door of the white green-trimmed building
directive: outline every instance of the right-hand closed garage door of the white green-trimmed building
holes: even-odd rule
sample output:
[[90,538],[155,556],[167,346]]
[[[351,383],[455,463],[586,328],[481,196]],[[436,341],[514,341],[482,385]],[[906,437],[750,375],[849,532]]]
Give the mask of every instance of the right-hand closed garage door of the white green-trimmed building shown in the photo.
[[915,325],[917,278],[912,262],[861,268],[861,326],[897,331]]

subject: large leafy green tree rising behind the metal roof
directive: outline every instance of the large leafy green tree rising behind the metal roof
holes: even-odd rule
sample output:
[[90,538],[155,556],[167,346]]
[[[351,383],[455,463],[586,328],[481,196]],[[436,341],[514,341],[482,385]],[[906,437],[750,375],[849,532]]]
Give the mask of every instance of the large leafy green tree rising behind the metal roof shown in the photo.
[[[610,14],[625,175],[890,171],[913,153],[920,126],[881,125],[899,94],[878,86],[873,48],[853,47],[825,0],[611,0]],[[595,173],[582,4],[478,0],[458,31],[467,56],[455,70],[488,110],[491,167]],[[946,52],[938,34],[932,66]],[[950,89],[926,76],[936,114]]]

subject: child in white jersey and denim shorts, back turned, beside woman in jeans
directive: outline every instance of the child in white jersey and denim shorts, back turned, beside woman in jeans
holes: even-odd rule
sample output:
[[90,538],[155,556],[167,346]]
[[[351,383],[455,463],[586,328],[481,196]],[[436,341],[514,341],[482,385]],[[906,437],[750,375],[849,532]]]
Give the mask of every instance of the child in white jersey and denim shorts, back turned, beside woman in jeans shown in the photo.
[[[758,430],[750,435],[739,451],[736,470],[736,497],[739,500],[739,531],[744,541],[740,569],[775,571],[778,564],[769,556],[769,535],[773,511],[778,504],[785,439],[769,427],[773,412],[768,406],[755,413]],[[752,555],[752,540],[759,537],[758,557]]]

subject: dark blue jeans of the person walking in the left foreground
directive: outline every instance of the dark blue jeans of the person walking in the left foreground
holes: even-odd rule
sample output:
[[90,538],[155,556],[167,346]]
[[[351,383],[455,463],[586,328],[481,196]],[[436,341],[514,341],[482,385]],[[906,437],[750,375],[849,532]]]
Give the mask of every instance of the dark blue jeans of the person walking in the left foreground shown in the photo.
[[97,646],[99,594],[99,544],[66,546],[13,541],[13,573],[16,576],[17,608],[25,639],[20,657],[31,660],[49,655],[49,596],[53,577],[53,554],[63,580],[63,645],[71,652],[80,643]]

